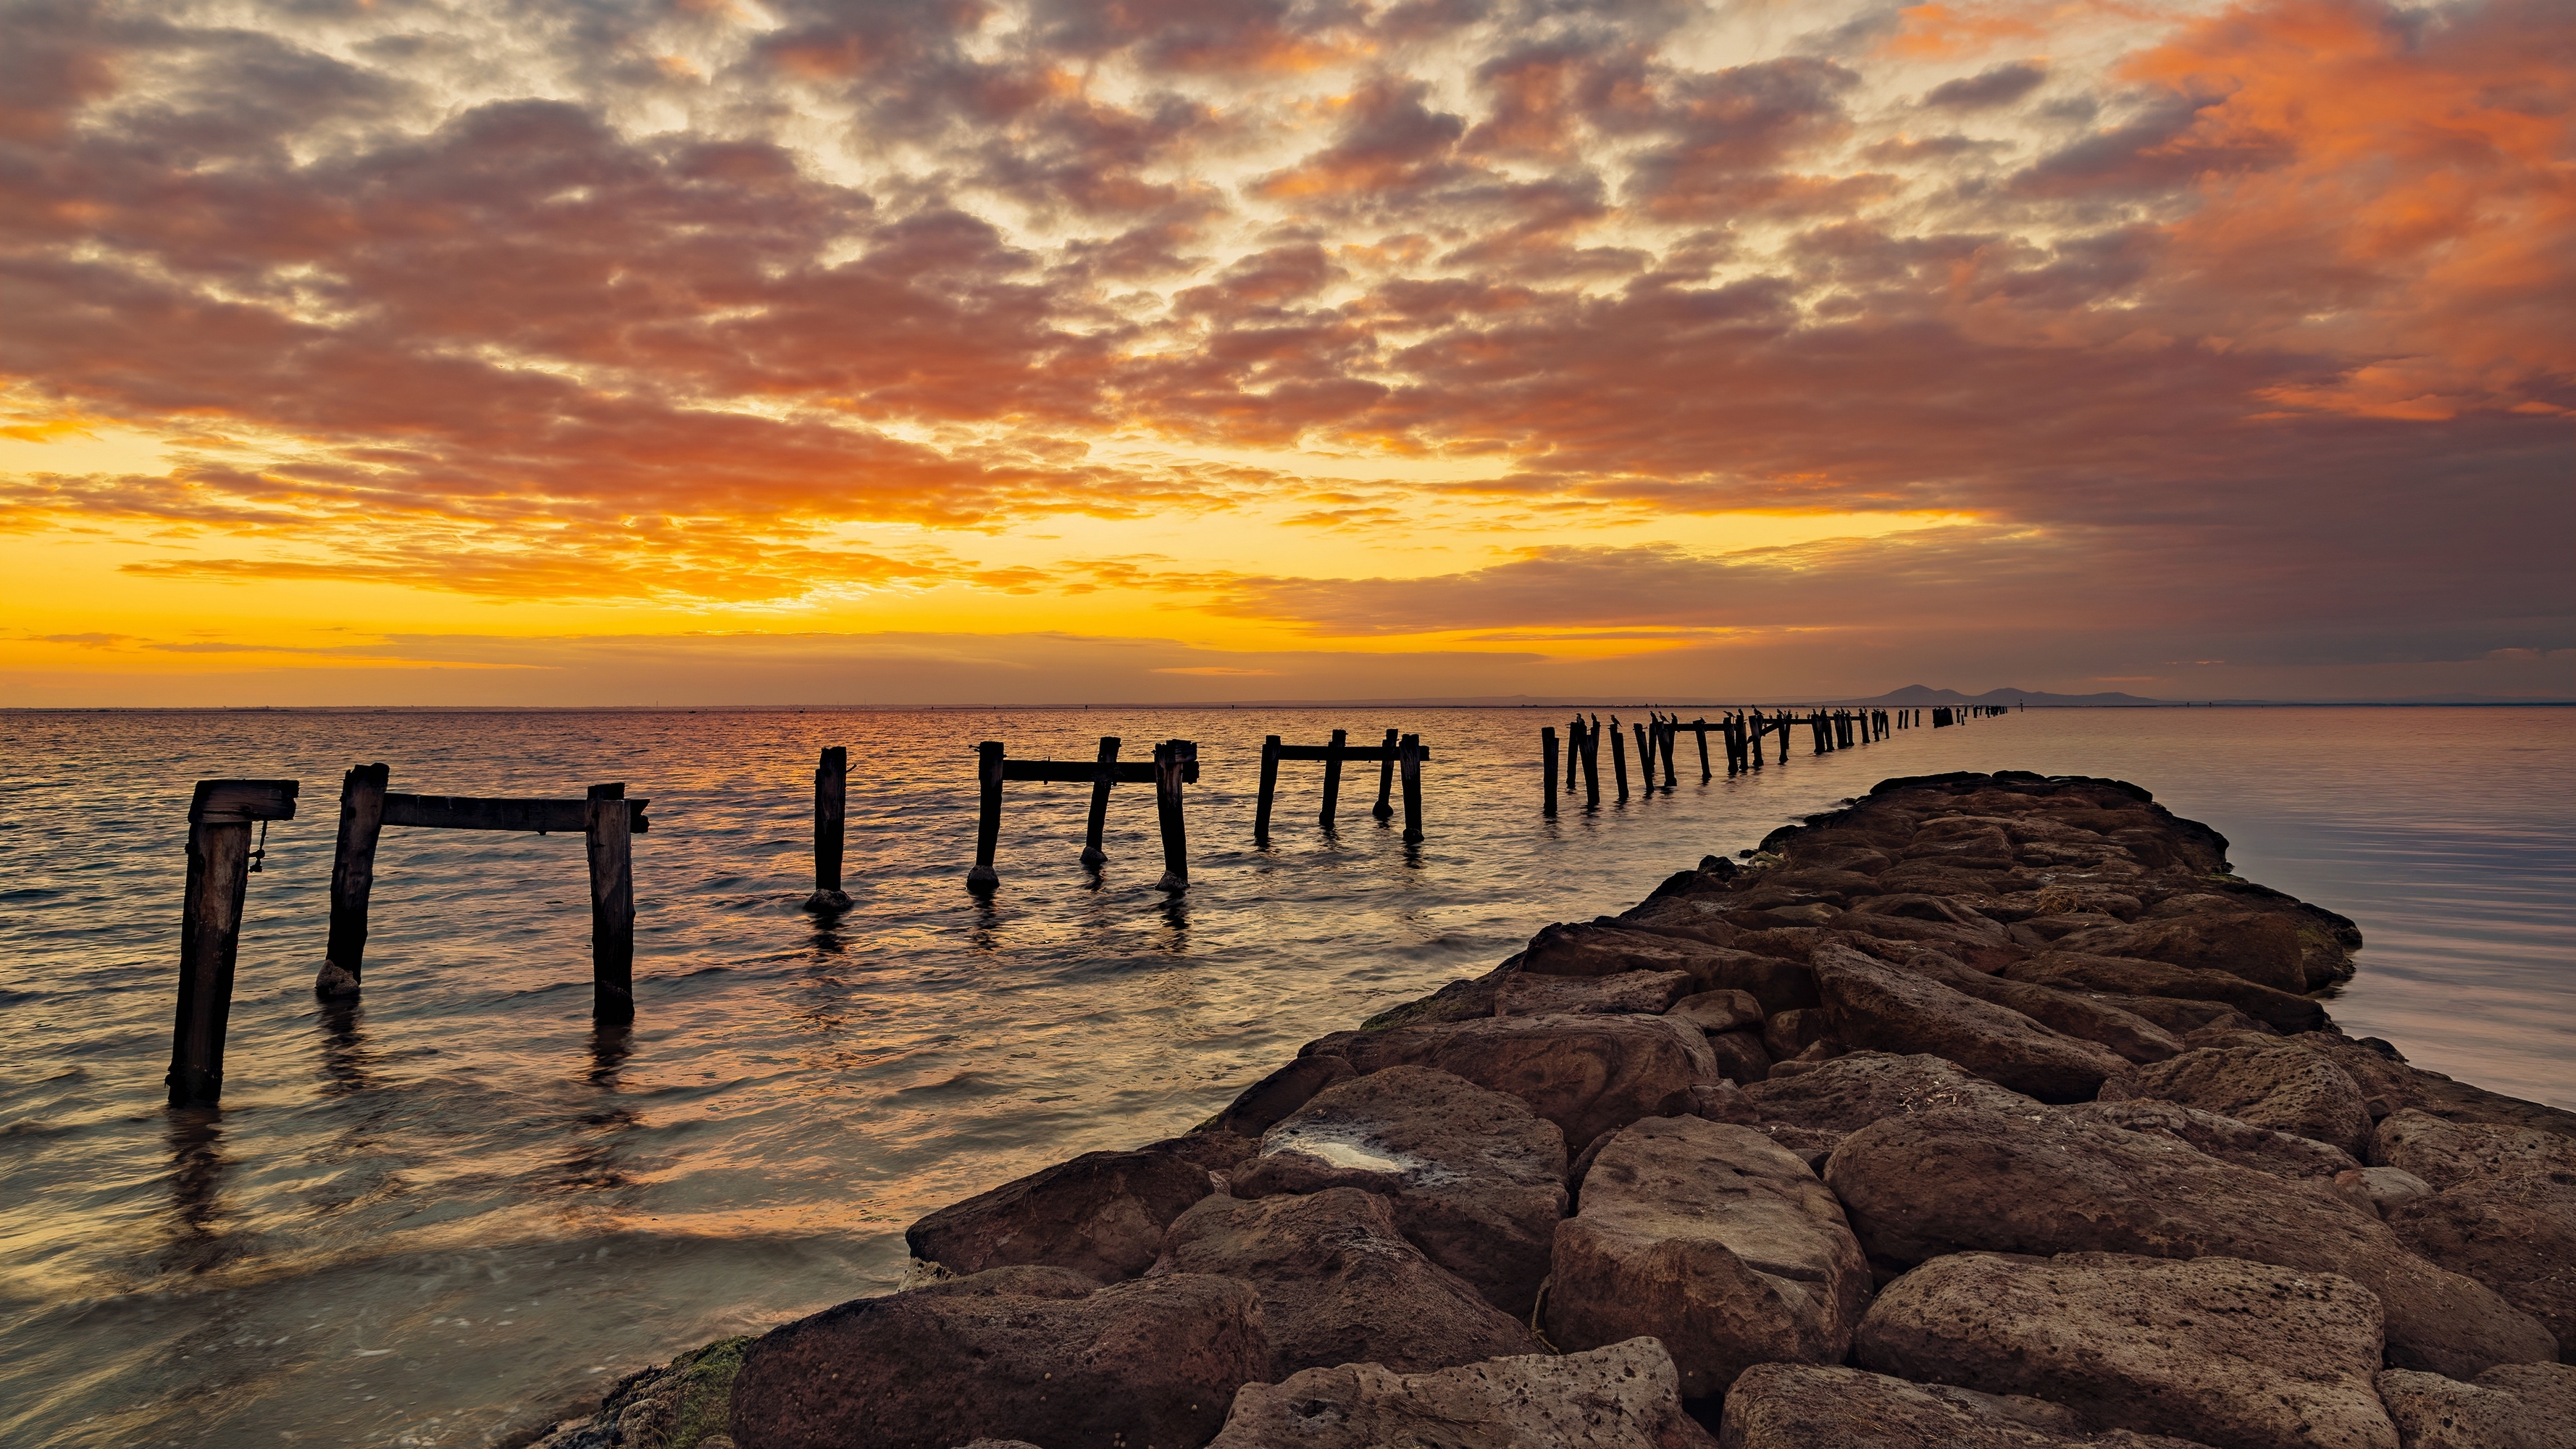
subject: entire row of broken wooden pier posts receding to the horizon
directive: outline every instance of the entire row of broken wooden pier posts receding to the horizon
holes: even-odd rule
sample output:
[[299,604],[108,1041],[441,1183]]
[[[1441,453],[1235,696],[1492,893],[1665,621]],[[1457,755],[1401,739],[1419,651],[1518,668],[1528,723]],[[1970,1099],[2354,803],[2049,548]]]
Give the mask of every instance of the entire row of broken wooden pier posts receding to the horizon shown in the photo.
[[[1777,758],[1788,761],[1790,732],[1806,724],[1819,755],[1888,737],[1891,730],[1922,727],[1922,709],[1906,712],[1790,712],[1765,714],[1759,709],[1728,712],[1718,719],[1682,722],[1677,714],[1649,712],[1646,722],[1631,724],[1636,735],[1638,766],[1646,792],[1656,789],[1656,758],[1662,758],[1662,789],[1674,786],[1674,743],[1682,730],[1698,737],[1700,779],[1713,779],[1708,758],[1708,732],[1718,732],[1726,755],[1726,773],[1759,771],[1765,766],[1765,740],[1777,735]],[[1971,717],[2002,714],[2002,706],[1932,709],[1932,727],[1965,722]],[[1600,804],[1600,740],[1602,722],[1577,714],[1566,732],[1566,789],[1577,779],[1584,786],[1584,804]],[[1628,799],[1628,745],[1618,717],[1610,717],[1610,768],[1618,799]],[[1090,784],[1090,825],[1082,843],[1082,864],[1100,866],[1100,833],[1108,820],[1110,789],[1118,784],[1151,784],[1154,815],[1162,828],[1162,879],[1157,890],[1182,892],[1190,887],[1190,846],[1182,822],[1182,786],[1198,781],[1198,745],[1193,740],[1164,740],[1154,745],[1154,761],[1121,761],[1121,740],[1100,737],[1092,761],[1012,761],[999,740],[976,745],[976,853],[966,887],[989,895],[999,887],[994,851],[1002,835],[1002,786],[1007,781],[1030,784]],[[1404,841],[1422,841],[1422,766],[1432,758],[1419,735],[1386,732],[1383,745],[1352,745],[1345,730],[1334,730],[1321,745],[1288,745],[1278,735],[1262,740],[1260,799],[1252,815],[1252,841],[1270,843],[1270,812],[1278,797],[1283,763],[1321,763],[1324,794],[1316,820],[1332,830],[1342,797],[1342,768],[1350,763],[1378,766],[1378,799],[1370,807],[1376,820],[1396,812],[1401,784]],[[1546,815],[1556,815],[1556,727],[1540,730],[1540,763],[1546,779]],[[822,750],[814,766],[814,895],[809,910],[848,910],[842,890],[842,835],[848,820],[850,753],[842,745]],[[340,835],[330,871],[330,938],[322,949],[322,969],[314,990],[322,995],[355,995],[366,975],[368,895],[376,887],[376,841],[386,825],[422,830],[533,830],[538,835],[580,833],[590,864],[590,1013],[603,1024],[634,1021],[634,835],[652,828],[644,815],[649,802],[626,799],[623,784],[595,784],[582,799],[484,799],[459,794],[397,794],[389,789],[392,771],[384,763],[355,766],[340,779]],[[180,918],[180,980],[178,1011],[170,1036],[170,1104],[211,1106],[224,1091],[224,1024],[232,1013],[232,972],[242,938],[242,905],[250,892],[250,874],[265,856],[270,820],[294,820],[301,781],[291,779],[209,779],[196,784],[188,802],[188,900]],[[252,846],[252,828],[260,846]]]

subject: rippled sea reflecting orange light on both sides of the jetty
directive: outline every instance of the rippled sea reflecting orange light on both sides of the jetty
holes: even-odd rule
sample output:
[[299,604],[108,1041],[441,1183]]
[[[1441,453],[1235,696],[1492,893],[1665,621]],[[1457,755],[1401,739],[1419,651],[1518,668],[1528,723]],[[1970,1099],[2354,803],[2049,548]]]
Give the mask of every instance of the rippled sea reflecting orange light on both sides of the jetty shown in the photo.
[[[2362,926],[2347,1031],[2576,1109],[2576,709],[2053,709],[1708,784],[1685,735],[1680,789],[1548,822],[1535,740],[1561,714],[0,714],[0,1439],[507,1439],[886,1292],[922,1212],[1182,1132],[1316,1034],[1904,773],[2143,784],[2239,874]],[[1422,846],[1370,820],[1368,766],[1319,830],[1321,766],[1291,763],[1252,848],[1265,732],[1391,724],[1432,745]],[[1200,743],[1193,890],[1151,890],[1149,789],[1121,786],[1095,879],[1087,789],[1010,786],[1002,890],[969,897],[974,740],[1090,761],[1108,732],[1128,758]],[[801,910],[822,745],[850,745],[837,920]],[[577,838],[386,830],[366,995],[317,1003],[361,761],[410,792],[649,797],[636,1026],[590,1026]],[[201,776],[304,799],[250,882],[224,1109],[173,1114]]]

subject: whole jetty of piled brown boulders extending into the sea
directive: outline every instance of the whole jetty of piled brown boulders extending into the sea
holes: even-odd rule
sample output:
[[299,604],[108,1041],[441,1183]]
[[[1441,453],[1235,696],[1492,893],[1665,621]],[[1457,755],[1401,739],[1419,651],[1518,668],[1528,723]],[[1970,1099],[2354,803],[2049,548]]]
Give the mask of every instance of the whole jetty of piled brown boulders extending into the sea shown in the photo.
[[549,1449],[2571,1444],[2576,1114],[2148,792],[1893,779]]

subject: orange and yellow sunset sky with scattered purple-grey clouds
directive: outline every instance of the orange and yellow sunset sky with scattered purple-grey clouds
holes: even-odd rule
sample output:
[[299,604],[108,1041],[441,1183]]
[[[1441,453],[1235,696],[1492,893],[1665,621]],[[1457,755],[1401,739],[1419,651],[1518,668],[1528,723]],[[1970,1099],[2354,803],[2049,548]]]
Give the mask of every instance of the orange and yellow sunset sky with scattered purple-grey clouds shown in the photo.
[[2576,5],[5,5],[0,704],[2576,694]]

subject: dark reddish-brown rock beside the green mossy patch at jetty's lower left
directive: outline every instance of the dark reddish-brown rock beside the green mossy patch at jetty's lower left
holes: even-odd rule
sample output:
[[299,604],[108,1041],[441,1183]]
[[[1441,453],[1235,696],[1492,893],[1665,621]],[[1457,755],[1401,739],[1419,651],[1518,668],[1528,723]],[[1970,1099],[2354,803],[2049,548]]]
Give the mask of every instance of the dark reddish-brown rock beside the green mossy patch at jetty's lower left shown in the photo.
[[914,1289],[757,1338],[734,1377],[732,1436],[739,1449],[1206,1444],[1234,1390],[1267,1372],[1260,1299],[1234,1279],[1167,1274],[1074,1299]]

